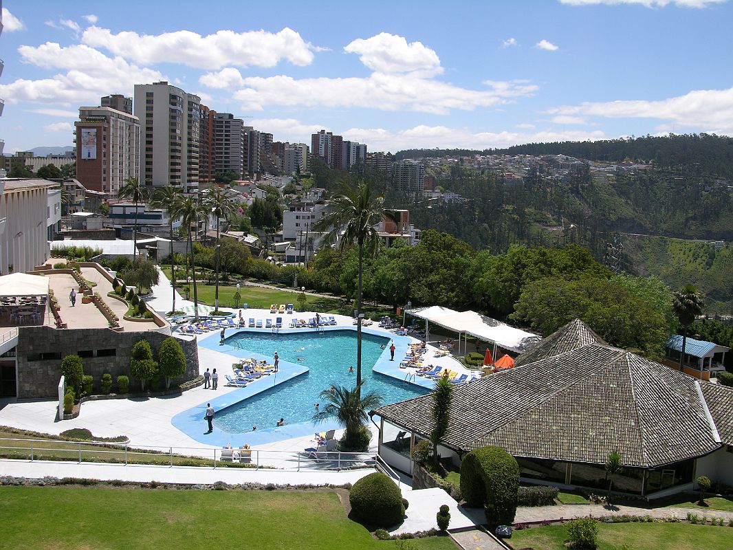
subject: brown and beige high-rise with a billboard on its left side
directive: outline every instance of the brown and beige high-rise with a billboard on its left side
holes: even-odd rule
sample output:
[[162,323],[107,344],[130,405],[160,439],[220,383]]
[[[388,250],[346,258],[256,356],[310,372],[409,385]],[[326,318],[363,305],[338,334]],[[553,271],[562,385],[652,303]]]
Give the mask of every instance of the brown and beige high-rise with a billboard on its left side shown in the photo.
[[[123,96],[106,96],[105,99]],[[123,98],[129,100],[130,98]],[[120,106],[120,103],[115,103]],[[124,105],[122,105],[124,106]],[[129,177],[140,173],[140,122],[128,111],[79,107],[76,133],[76,179],[92,191],[117,197]]]

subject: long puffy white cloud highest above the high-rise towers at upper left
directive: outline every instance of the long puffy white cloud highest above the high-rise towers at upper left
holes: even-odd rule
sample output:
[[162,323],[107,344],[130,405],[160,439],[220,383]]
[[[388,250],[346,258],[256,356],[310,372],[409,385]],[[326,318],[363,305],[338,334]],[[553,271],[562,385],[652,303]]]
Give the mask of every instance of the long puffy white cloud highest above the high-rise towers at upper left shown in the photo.
[[91,26],[84,31],[81,41],[145,65],[180,63],[200,69],[218,69],[226,65],[274,67],[282,59],[301,66],[313,61],[312,46],[287,27],[276,33],[224,30],[202,36],[191,31],[112,34],[109,29]]

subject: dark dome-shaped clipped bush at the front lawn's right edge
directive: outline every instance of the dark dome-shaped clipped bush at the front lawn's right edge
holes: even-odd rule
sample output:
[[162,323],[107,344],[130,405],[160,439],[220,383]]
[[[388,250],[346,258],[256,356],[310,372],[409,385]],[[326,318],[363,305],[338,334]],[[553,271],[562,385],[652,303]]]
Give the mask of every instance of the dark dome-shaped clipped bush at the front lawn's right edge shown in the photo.
[[382,472],[369,474],[354,483],[349,502],[354,517],[373,527],[393,527],[405,518],[402,494]]

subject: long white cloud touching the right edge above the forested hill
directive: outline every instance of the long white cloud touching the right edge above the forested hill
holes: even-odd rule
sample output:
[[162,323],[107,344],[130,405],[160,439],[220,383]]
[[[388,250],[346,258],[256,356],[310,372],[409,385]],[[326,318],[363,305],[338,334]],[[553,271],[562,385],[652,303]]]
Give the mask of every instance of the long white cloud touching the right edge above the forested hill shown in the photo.
[[[693,90],[658,101],[631,100],[581,103],[550,109],[551,114],[607,118],[653,118],[681,128],[733,134],[733,88]],[[668,128],[668,126],[667,126]]]

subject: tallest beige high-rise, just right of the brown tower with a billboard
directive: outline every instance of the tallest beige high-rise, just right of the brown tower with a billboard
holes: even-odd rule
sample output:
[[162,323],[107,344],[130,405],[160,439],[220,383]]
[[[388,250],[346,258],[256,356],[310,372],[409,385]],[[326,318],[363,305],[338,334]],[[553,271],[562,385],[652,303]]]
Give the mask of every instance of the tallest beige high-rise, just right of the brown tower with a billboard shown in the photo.
[[148,185],[199,185],[201,99],[166,81],[135,85],[140,178]]

